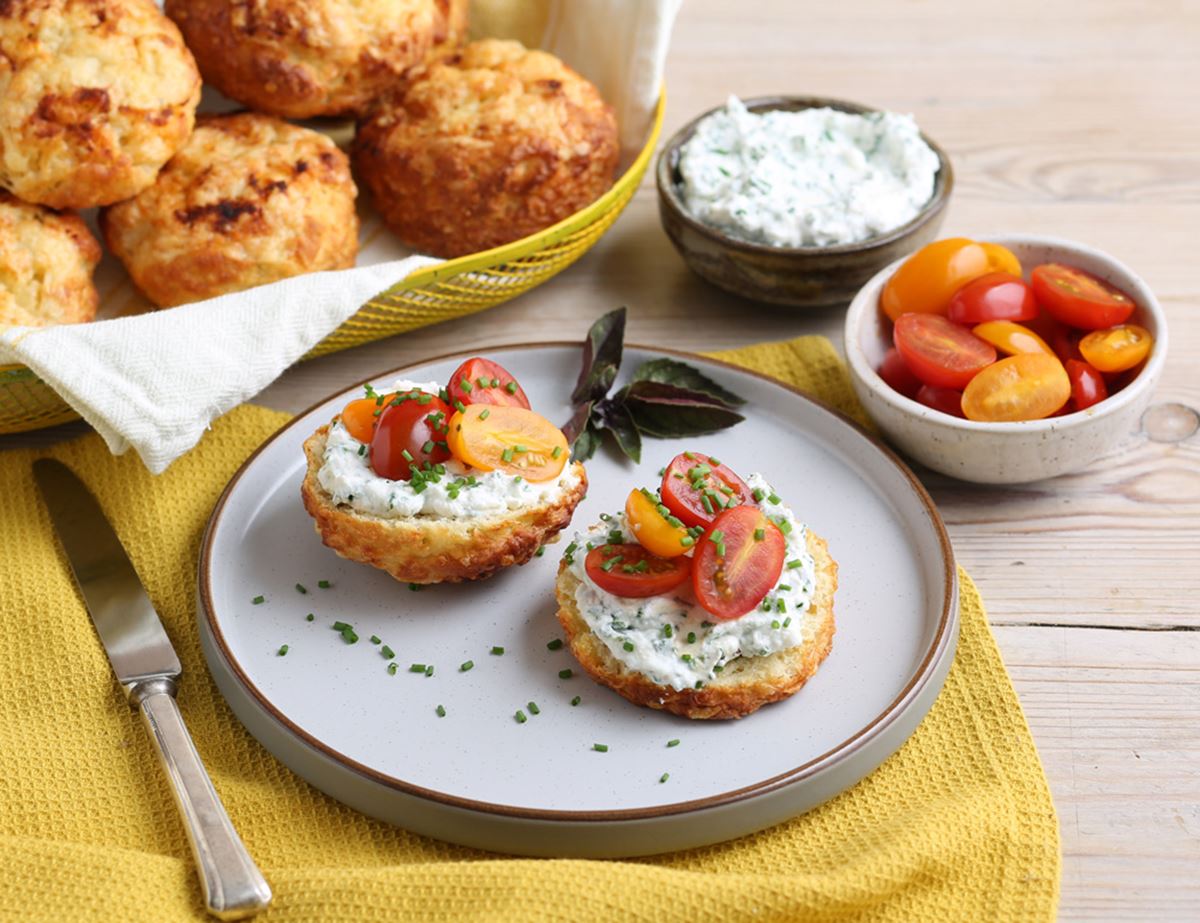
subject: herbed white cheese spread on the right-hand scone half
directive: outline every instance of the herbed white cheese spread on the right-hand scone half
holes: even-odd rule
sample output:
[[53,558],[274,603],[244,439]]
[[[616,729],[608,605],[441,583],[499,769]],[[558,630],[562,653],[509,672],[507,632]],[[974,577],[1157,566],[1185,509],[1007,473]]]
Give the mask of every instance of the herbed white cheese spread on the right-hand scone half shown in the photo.
[[[761,474],[751,474],[746,484],[775,496]],[[598,587],[584,567],[587,552],[604,545],[613,529],[634,540],[624,513],[576,534],[566,549],[564,559],[580,581],[575,592],[580,615],[628,670],[676,690],[703,687],[739,657],[767,657],[803,645],[804,616],[816,591],[816,563],[808,550],[806,528],[782,503],[764,502],[763,511],[784,529],[784,571],[762,603],[740,618],[714,618],[696,601],[690,583],[644,599],[616,597]]]

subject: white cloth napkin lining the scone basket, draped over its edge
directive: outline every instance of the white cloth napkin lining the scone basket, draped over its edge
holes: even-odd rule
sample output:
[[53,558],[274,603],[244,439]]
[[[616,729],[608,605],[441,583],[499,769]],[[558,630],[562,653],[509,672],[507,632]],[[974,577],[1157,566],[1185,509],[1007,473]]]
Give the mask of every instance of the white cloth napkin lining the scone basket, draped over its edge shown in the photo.
[[[542,4],[533,19],[532,2]],[[476,0],[479,18],[494,28],[491,34],[505,34],[506,16],[524,28],[544,25],[541,47],[598,85],[617,109],[623,164],[649,131],[680,2]],[[515,25],[510,34],[518,31]],[[365,301],[439,262],[397,259],[404,251],[386,232],[376,232],[364,228],[364,238],[378,242],[364,247],[355,269],[133,317],[0,330],[0,364],[29,366],[114,454],[132,446],[160,473],[196,445],[214,419],[263,390]],[[122,296],[128,296],[127,284]]]

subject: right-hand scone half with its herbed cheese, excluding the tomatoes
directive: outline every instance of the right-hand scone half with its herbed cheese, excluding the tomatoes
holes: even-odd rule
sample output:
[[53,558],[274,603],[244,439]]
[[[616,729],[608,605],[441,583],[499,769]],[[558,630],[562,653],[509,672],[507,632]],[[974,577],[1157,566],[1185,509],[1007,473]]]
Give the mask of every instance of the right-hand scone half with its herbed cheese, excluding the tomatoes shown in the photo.
[[[757,474],[746,483],[774,496]],[[838,564],[790,509],[764,511],[791,527],[787,565],[760,605],[727,621],[702,609],[686,582],[625,599],[588,576],[589,547],[614,529],[631,534],[624,514],[576,535],[559,565],[558,621],[592,678],[635,705],[696,719],[742,718],[798,691],[833,647]]]

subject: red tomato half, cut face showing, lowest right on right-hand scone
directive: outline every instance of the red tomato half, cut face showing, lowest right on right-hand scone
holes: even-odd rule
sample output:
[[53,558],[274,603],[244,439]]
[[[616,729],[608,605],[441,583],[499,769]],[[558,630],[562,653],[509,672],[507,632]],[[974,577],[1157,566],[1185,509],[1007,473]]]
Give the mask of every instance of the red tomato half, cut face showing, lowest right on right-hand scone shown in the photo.
[[761,509],[725,510],[696,543],[691,587],[697,601],[720,619],[744,616],[775,586],[786,555],[784,533]]

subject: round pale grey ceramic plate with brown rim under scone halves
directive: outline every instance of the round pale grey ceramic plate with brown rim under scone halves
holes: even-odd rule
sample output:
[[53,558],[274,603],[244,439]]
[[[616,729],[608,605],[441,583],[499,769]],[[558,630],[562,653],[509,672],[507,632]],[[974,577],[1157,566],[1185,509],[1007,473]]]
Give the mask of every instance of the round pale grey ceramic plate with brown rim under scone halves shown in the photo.
[[[569,416],[577,344],[480,354],[509,368],[540,413]],[[625,373],[658,354],[626,348]],[[463,358],[372,380],[445,380]],[[745,421],[702,438],[647,439],[638,466],[602,450],[588,463],[575,525],[620,509],[632,486],[652,486],[686,448],[743,474],[763,472],[840,568],[833,652],[797,695],[737,721],[689,721],[592,683],[565,648],[547,649],[562,637],[553,597],[562,544],[491,580],[419,593],[336,557],[300,504],[301,443],[361,395],[355,386],[271,437],[234,475],[204,538],[204,652],[250,732],[367,814],[544,856],[646,855],[742,835],[882,762],[929,709],[953,659],[958,588],[941,520],[907,468],[845,418],[770,379],[683,358],[748,398]],[[253,604],[259,595],[265,601]],[[354,625],[358,643],[331,630],[338,619]],[[395,651],[396,675],[371,635]],[[460,672],[466,660],[475,666]],[[433,676],[409,672],[414,663],[434,665]],[[574,676],[559,678],[568,667]],[[540,714],[518,724],[514,713],[528,714],[530,701]]]

